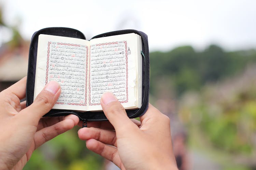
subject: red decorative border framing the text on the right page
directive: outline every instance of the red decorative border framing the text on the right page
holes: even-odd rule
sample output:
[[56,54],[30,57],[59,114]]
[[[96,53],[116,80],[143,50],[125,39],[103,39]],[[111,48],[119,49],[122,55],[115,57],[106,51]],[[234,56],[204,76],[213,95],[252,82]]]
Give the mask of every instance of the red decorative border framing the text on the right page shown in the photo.
[[[127,41],[123,41],[125,43],[125,59],[126,59],[126,100],[120,101],[120,103],[127,103],[128,102],[128,51],[127,51]],[[110,43],[101,43],[96,44],[96,46],[102,45],[110,45],[110,44],[118,44],[118,42],[110,42]],[[90,67],[90,63],[89,63]],[[89,105],[100,105],[100,103],[91,103],[91,86],[90,86],[90,70],[89,70]]]

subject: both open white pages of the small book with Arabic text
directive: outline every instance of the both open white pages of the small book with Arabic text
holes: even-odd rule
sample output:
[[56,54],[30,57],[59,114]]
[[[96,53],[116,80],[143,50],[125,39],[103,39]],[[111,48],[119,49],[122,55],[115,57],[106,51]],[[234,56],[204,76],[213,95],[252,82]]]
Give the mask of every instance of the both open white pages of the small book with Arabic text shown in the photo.
[[112,92],[126,109],[141,107],[142,42],[135,33],[90,41],[40,34],[34,99],[49,81],[61,94],[54,109],[102,110],[100,98]]

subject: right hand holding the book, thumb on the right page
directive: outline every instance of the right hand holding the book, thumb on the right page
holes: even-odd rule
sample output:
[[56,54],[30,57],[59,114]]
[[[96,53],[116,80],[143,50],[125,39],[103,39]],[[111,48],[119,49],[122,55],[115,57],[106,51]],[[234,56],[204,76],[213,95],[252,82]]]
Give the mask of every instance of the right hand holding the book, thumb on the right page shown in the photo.
[[[129,119],[124,107],[107,92],[101,106],[108,122],[88,122],[78,131],[86,147],[121,169],[177,169],[172,150],[170,119],[149,105],[141,125]],[[114,129],[112,129],[114,128]],[[115,130],[115,131],[113,131]]]

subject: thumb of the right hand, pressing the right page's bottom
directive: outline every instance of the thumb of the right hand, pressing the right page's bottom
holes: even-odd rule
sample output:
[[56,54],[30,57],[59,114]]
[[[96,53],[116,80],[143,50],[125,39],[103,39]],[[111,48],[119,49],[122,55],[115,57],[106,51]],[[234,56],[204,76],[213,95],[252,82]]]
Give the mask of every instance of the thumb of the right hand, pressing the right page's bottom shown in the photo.
[[116,97],[111,92],[106,92],[101,96],[101,107],[104,114],[114,126],[117,133],[130,131],[131,129],[138,129],[127,116],[125,108],[118,102]]

